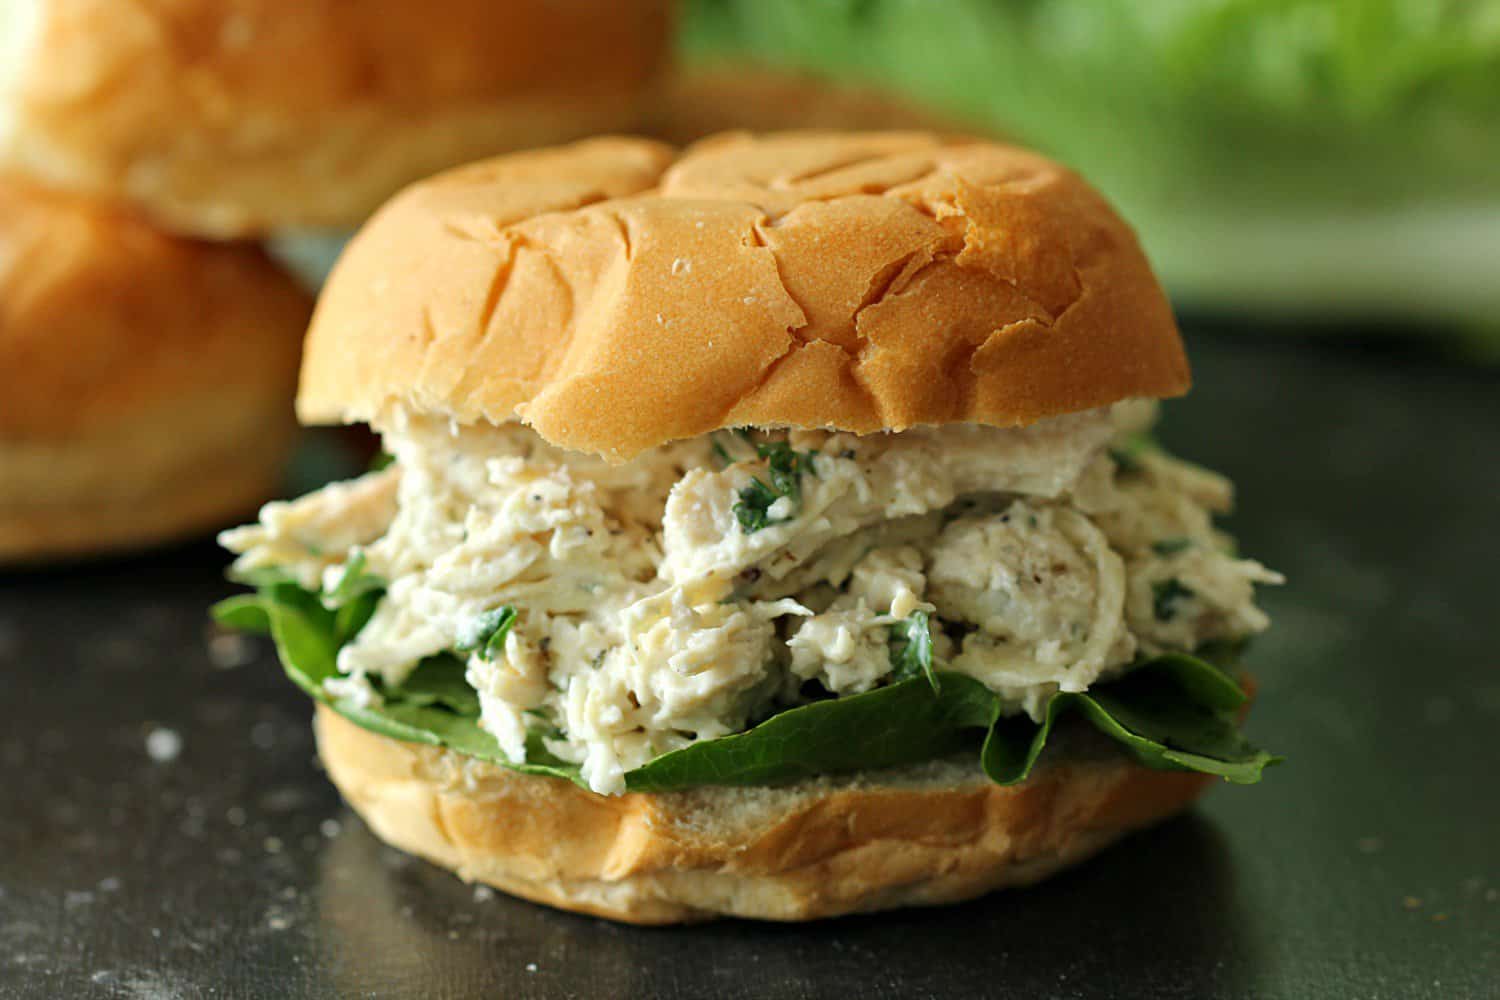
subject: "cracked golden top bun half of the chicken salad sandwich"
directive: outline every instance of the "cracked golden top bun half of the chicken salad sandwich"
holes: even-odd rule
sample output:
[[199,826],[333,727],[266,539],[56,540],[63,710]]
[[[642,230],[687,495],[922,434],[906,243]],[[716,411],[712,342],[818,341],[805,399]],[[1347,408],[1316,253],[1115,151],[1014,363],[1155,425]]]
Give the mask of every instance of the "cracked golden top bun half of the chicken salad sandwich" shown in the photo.
[[390,403],[628,457],[732,426],[1024,424],[1186,391],[1130,228],[921,132],[596,139],[418,183],[324,288],[298,412]]

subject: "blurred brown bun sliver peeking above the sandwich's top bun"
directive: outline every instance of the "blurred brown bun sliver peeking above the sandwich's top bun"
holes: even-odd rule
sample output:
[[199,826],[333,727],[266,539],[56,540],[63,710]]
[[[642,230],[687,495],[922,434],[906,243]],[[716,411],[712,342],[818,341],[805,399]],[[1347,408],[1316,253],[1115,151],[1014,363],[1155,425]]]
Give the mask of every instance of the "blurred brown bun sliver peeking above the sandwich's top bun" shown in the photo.
[[970,130],[894,94],[753,64],[684,69],[651,102],[646,123],[646,135],[678,145],[729,129]]

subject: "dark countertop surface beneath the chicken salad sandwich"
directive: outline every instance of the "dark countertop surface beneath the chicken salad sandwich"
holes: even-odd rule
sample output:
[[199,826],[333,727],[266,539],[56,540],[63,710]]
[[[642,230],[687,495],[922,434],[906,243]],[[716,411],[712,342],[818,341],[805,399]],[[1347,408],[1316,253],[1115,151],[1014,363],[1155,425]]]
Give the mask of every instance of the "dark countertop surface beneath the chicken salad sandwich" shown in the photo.
[[8,576],[0,996],[1497,996],[1500,378],[1192,349],[1162,436],[1234,477],[1244,550],[1290,577],[1250,660],[1288,759],[1263,784],[964,906],[615,927],[380,846],[268,649],[210,643],[212,546]]

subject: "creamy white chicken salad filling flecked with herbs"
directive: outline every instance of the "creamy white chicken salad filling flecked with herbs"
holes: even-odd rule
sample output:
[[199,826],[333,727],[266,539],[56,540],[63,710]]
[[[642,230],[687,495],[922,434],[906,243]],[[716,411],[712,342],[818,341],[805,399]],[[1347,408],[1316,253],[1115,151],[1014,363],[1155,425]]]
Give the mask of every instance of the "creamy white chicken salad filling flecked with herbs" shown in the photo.
[[[356,549],[387,580],[339,654],[351,697],[513,606],[504,649],[468,660],[482,724],[519,762],[546,720],[548,750],[615,793],[652,757],[819,688],[886,682],[891,627],[916,610],[944,669],[1034,717],[1142,652],[1264,628],[1252,586],[1280,577],[1215,532],[1227,481],[1162,454],[1128,472],[1110,459],[1143,420],[1118,406],[1020,429],[720,432],[609,465],[518,424],[393,412],[390,469],[267,505],[224,541],[242,570],[304,586]],[[756,445],[777,442],[807,456],[800,489],[770,493],[747,531],[736,504],[774,478]]]

